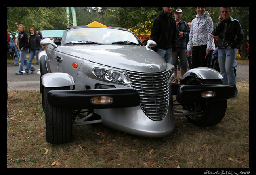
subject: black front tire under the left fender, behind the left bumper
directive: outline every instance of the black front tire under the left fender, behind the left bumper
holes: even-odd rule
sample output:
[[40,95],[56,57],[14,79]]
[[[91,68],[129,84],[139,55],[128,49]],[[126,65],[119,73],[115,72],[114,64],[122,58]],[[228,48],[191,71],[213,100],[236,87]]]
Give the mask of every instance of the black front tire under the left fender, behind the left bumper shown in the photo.
[[54,108],[47,101],[50,90],[69,90],[69,87],[46,88],[43,87],[42,98],[45,113],[46,141],[50,144],[64,144],[72,137],[72,111],[64,108]]

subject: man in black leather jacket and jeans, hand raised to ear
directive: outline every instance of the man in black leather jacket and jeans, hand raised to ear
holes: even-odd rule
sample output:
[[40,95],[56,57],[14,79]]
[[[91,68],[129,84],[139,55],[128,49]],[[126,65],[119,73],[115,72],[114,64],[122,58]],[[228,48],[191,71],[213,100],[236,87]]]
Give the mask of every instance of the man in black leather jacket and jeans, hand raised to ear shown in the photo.
[[[243,29],[238,20],[233,19],[231,7],[221,7],[219,22],[213,30],[213,35],[218,35],[218,62],[224,84],[236,85],[233,65],[236,57],[236,48],[243,40]],[[238,90],[236,90],[235,97]]]

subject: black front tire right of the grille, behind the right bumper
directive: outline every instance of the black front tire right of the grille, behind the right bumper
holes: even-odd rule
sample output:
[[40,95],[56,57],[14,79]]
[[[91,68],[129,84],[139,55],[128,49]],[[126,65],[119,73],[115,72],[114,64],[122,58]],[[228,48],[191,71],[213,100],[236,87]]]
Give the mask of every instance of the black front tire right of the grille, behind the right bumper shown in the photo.
[[[221,79],[187,79],[186,84],[222,84]],[[187,120],[199,127],[209,127],[222,121],[227,109],[227,100],[184,104],[183,110],[201,112],[199,115],[186,115]]]

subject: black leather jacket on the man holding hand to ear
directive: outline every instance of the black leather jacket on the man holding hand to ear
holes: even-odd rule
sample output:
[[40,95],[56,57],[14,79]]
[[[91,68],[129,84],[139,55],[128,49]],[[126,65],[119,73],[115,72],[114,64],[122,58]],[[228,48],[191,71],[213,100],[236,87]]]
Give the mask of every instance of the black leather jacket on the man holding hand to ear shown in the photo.
[[229,18],[227,21],[219,21],[212,34],[218,35],[218,48],[223,49],[230,46],[237,48],[243,40],[243,29],[238,20]]

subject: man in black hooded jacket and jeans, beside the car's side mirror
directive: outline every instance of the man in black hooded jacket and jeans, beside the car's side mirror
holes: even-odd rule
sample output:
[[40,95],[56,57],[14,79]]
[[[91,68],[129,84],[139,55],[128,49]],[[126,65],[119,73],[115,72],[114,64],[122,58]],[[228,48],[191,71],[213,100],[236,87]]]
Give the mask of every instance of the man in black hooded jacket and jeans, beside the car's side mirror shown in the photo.
[[171,12],[172,7],[163,7],[153,21],[150,35],[157,44],[153,49],[164,57],[166,63],[171,63],[171,53],[176,54],[176,24]]

